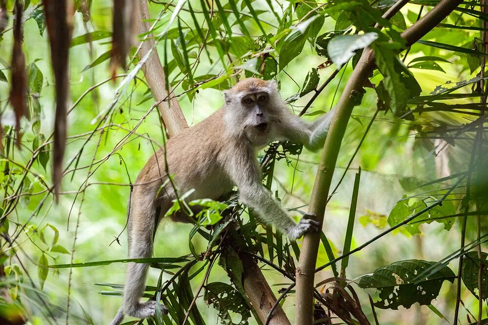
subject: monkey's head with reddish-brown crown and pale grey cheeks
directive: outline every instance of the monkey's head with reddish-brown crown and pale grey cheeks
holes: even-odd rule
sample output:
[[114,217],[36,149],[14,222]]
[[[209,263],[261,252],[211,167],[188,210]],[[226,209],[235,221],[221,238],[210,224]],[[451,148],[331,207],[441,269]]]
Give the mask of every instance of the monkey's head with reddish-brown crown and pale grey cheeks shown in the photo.
[[[265,142],[270,122],[283,107],[276,81],[247,78],[224,92],[230,130],[244,132],[251,142]],[[260,143],[256,143],[261,145]]]

